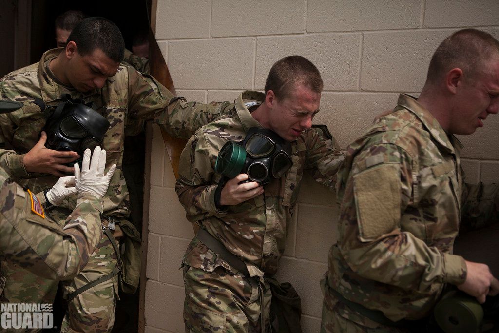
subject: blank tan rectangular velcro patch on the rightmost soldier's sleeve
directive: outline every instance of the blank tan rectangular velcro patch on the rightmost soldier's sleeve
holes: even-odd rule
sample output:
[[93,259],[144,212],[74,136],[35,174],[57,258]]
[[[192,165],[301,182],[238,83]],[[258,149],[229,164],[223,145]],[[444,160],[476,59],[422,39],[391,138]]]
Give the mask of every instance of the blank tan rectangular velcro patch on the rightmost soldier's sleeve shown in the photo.
[[384,164],[353,177],[361,241],[392,232],[400,223],[400,167]]

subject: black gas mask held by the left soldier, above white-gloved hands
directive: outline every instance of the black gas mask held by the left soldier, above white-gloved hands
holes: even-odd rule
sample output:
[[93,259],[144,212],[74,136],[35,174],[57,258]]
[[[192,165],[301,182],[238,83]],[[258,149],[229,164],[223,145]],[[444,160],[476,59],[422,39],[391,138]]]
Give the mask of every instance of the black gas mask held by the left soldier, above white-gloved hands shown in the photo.
[[[41,105],[40,104],[43,104]],[[72,99],[69,94],[62,95],[62,102],[54,109],[37,99],[47,120],[43,130],[47,133],[45,147],[53,150],[75,151],[83,156],[85,149],[102,146],[104,135],[109,128],[109,121],[92,109],[91,103],[85,104],[81,99]],[[81,165],[82,157],[68,164]]]

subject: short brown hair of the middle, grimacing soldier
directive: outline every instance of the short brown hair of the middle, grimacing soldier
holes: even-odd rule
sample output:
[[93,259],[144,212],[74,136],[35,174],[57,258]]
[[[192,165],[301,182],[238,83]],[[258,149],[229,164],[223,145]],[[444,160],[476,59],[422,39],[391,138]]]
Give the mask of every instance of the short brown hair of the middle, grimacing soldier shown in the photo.
[[303,85],[313,92],[322,91],[320,72],[301,55],[286,56],[272,65],[265,81],[265,93],[272,90],[278,99],[291,97],[293,90]]

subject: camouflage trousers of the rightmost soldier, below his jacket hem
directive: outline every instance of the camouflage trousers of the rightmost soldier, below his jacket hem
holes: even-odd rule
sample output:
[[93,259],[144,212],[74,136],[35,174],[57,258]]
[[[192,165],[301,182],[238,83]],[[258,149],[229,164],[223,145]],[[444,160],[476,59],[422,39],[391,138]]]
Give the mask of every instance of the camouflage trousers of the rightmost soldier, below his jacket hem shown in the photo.
[[332,294],[327,275],[321,280],[324,301],[320,333],[409,333],[405,328],[384,326],[351,311]]

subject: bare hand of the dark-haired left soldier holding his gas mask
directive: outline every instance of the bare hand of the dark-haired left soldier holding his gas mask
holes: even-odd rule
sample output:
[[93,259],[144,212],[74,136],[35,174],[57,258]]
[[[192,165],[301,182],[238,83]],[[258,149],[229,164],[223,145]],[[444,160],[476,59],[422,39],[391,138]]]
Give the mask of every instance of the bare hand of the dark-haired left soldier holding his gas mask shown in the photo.
[[63,164],[71,163],[80,156],[75,151],[58,151],[45,147],[47,134],[42,131],[40,140],[28,151],[22,160],[27,172],[49,173],[57,177],[65,176],[63,172],[72,173],[74,168]]

